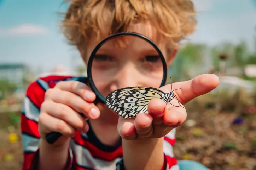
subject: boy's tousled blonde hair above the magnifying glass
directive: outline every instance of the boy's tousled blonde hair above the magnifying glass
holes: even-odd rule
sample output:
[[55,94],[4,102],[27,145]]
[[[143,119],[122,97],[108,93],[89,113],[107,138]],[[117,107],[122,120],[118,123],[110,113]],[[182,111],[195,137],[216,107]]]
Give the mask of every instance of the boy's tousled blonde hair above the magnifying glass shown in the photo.
[[[194,32],[196,12],[191,0],[67,0],[61,28],[70,44],[86,45],[89,39],[127,31],[133,23],[150,22],[169,49]],[[168,50],[169,50],[168,49]]]

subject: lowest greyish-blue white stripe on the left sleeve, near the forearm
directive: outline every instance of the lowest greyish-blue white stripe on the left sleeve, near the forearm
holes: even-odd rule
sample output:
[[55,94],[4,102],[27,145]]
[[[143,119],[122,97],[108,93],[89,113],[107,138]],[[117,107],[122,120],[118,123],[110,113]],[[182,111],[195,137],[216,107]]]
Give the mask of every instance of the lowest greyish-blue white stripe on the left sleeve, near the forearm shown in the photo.
[[39,138],[22,134],[22,147],[24,152],[35,152],[39,146]]

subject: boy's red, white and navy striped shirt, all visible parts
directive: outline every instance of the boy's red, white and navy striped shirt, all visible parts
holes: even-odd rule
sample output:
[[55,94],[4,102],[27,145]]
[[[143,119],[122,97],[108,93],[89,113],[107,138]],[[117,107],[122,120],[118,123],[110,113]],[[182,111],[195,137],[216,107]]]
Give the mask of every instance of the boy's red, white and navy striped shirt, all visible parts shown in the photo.
[[[33,168],[38,160],[39,139],[38,119],[40,107],[44,100],[45,92],[53,88],[59,81],[75,80],[85,83],[86,77],[72,76],[47,76],[40,77],[32,82],[23,102],[21,114],[21,131],[23,145],[23,170]],[[90,125],[89,125],[90,126]],[[177,160],[173,155],[175,143],[175,129],[164,137],[163,154],[164,164],[162,170],[179,170]],[[121,170],[122,164],[122,143],[121,140],[116,146],[102,144],[91,128],[84,134],[78,131],[70,141],[68,166],[66,170]]]

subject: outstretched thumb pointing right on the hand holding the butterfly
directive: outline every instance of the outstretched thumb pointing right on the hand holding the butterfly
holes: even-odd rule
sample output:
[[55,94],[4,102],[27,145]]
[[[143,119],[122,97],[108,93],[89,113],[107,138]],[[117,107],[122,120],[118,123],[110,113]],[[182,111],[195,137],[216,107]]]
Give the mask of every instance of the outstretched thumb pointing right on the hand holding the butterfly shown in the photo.
[[219,85],[219,77],[215,74],[203,74],[199,75],[192,80],[177,82],[168,84],[162,88],[165,93],[175,90],[178,100],[180,103],[185,105],[190,100],[194,99],[197,96],[203,95],[215,89]]

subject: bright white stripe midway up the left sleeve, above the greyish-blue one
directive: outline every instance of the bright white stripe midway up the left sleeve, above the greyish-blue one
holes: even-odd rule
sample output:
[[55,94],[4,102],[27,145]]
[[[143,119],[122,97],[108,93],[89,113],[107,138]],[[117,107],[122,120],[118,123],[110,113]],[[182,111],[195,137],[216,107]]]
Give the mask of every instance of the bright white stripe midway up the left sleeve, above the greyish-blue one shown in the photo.
[[22,112],[25,116],[30,119],[38,122],[40,110],[25,96],[23,101]]

